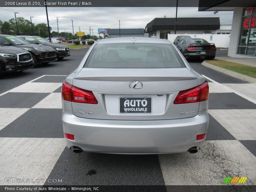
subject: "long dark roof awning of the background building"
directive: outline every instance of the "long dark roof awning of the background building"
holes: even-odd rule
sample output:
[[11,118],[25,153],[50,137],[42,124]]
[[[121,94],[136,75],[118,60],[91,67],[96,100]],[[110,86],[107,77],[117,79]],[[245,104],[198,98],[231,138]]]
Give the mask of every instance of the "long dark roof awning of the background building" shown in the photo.
[[[175,18],[155,18],[145,27],[145,33],[156,30],[174,30]],[[176,30],[217,30],[220,29],[219,17],[177,18]]]

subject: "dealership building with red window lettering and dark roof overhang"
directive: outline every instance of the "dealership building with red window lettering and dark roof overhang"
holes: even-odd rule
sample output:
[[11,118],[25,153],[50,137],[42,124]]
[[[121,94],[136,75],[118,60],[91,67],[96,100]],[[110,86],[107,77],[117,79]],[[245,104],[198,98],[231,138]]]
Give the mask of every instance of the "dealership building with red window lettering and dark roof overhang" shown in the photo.
[[[203,0],[199,0],[199,11],[234,11],[228,56],[242,58],[256,58],[256,3],[251,0],[213,0],[211,6],[201,7]],[[215,4],[214,4],[215,3]],[[240,6],[239,6],[240,5]]]

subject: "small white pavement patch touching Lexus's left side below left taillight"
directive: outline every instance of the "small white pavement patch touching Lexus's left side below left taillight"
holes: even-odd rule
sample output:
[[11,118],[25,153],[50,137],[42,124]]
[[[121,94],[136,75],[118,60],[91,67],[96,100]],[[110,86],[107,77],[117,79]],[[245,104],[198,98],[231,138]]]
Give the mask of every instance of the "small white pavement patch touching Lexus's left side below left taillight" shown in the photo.
[[32,108],[61,109],[61,93],[51,93]]

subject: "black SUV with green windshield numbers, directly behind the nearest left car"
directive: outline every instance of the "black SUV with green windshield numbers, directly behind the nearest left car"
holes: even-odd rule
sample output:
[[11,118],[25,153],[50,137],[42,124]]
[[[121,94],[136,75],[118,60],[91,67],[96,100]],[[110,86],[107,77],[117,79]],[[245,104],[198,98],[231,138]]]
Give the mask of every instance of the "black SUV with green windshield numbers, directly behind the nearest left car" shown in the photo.
[[33,65],[56,61],[56,51],[49,46],[30,44],[28,41],[12,35],[0,35],[0,45],[16,46],[31,53]]

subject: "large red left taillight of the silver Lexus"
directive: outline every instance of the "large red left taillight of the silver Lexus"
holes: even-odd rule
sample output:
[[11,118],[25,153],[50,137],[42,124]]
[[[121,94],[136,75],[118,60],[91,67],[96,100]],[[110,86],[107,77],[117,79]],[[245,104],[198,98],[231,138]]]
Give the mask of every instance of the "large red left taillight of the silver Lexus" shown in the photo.
[[66,81],[62,84],[62,99],[76,103],[98,104],[91,91],[79,89]]

